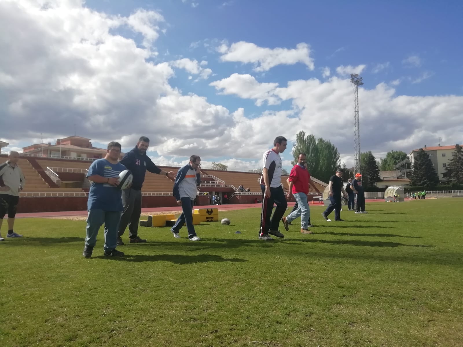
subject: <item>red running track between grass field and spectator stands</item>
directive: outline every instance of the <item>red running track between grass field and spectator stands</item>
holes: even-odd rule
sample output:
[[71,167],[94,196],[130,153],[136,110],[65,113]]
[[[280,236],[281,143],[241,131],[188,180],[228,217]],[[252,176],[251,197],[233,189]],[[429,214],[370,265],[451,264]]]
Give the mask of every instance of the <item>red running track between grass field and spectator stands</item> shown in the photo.
[[[383,199],[368,199],[366,202],[380,202]],[[294,206],[294,202],[288,203],[288,206]],[[323,206],[319,203],[311,203],[311,206]],[[218,208],[219,211],[231,211],[231,210],[244,210],[251,207],[261,208],[262,204],[225,204],[225,205],[209,205],[209,206],[194,206],[195,208],[212,209]],[[169,212],[169,211],[180,211],[180,206],[169,206],[169,207],[154,207],[144,208],[142,212]],[[36,212],[36,213],[17,213],[16,218],[50,218],[50,217],[71,217],[71,216],[87,216],[87,211],[60,211],[60,212]]]

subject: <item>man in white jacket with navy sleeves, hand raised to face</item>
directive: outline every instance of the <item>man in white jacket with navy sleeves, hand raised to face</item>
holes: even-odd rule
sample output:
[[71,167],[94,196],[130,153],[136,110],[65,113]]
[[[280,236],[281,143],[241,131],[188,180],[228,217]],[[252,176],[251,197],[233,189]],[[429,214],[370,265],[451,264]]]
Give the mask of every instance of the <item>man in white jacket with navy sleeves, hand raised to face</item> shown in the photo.
[[178,217],[175,225],[170,229],[175,238],[178,235],[183,224],[187,223],[188,238],[190,241],[198,241],[200,238],[196,235],[193,225],[193,201],[198,194],[197,186],[200,185],[201,158],[199,155],[192,155],[190,162],[181,167],[177,172],[177,178],[174,183],[173,194],[177,204],[181,206],[183,213]]

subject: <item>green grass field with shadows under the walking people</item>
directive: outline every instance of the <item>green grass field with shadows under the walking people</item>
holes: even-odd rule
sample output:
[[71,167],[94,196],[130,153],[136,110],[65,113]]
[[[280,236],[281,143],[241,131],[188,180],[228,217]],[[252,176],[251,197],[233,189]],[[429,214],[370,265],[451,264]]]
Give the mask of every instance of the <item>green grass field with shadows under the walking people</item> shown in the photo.
[[298,219],[268,242],[260,209],[199,242],[140,228],[123,259],[102,257],[102,230],[83,258],[83,221],[19,219],[25,237],[0,243],[0,346],[463,346],[463,199],[367,210],[329,223],[311,206],[313,235]]

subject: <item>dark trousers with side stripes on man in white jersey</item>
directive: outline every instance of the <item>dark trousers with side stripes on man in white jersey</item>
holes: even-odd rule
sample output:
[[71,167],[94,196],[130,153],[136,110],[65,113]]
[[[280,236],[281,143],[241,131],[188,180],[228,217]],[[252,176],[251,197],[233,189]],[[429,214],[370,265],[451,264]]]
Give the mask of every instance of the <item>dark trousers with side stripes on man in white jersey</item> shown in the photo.
[[[286,209],[288,208],[288,202],[286,201],[285,192],[283,187],[279,186],[276,188],[270,187],[270,198],[265,197],[265,186],[261,185],[262,189],[262,212],[261,212],[261,224],[259,236],[268,235],[269,229],[278,230],[280,221],[282,220]],[[270,216],[273,210],[273,204],[276,204],[275,212],[272,218]]]

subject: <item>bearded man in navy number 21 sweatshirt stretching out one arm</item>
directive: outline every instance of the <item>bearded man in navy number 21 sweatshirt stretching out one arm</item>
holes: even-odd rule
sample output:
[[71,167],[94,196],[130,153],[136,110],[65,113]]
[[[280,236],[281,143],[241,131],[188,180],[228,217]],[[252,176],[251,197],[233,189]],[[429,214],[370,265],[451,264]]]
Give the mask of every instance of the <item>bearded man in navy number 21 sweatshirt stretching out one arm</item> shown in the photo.
[[130,152],[125,153],[120,161],[121,164],[127,167],[133,175],[132,186],[129,189],[122,191],[122,204],[124,212],[120,218],[119,233],[117,237],[117,245],[123,246],[121,236],[125,232],[127,225],[129,226],[130,243],[146,242],[138,236],[138,222],[142,212],[142,186],[146,170],[153,174],[165,175],[170,180],[175,180],[175,171],[166,172],[157,167],[146,155],[146,150],[150,145],[150,139],[146,136],[140,137],[137,146]]

